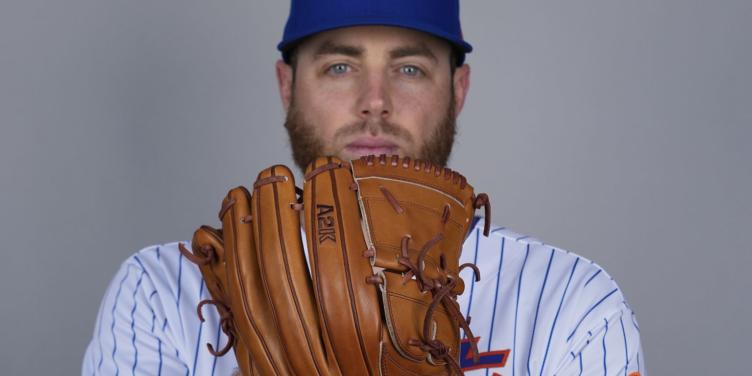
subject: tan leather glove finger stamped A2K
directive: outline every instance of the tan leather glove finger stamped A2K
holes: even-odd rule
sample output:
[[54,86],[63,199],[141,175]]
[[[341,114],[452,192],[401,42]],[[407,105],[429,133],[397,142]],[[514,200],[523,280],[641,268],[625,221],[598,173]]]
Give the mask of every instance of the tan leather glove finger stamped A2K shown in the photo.
[[[305,174],[308,254],[324,343],[342,374],[378,374],[381,309],[366,250],[349,163],[320,157]],[[330,358],[332,359],[332,358]],[[332,368],[334,369],[334,368]]]

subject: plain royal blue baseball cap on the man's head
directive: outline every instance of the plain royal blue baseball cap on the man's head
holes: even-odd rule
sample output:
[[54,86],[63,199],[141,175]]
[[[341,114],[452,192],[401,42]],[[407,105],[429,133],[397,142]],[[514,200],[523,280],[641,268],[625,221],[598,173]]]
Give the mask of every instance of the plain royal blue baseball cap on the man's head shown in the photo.
[[462,39],[459,0],[292,0],[277,50],[287,52],[308,35],[348,26],[400,26],[444,38],[458,52],[457,65],[472,46]]

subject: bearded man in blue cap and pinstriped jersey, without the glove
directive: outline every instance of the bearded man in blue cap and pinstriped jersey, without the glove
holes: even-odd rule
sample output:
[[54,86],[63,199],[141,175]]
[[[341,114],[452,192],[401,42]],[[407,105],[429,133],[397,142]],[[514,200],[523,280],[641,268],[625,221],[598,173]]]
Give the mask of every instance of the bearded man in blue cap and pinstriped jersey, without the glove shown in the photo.
[[[321,155],[400,154],[445,165],[470,68],[457,0],[293,0],[277,81],[300,168]],[[471,229],[460,264],[482,279],[458,302],[481,361],[465,374],[644,375],[634,314],[593,262],[494,226]],[[100,308],[82,374],[216,374],[237,366],[199,269],[177,243],[123,263]],[[467,348],[465,348],[467,347]],[[463,341],[461,353],[468,353]]]

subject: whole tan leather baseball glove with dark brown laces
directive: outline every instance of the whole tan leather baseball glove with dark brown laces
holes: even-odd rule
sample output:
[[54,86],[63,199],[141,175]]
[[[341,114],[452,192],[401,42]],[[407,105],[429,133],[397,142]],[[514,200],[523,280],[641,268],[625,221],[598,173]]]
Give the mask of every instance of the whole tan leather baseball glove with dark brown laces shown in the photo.
[[[275,165],[253,194],[231,190],[222,228],[202,226],[193,253],[244,375],[462,374],[456,303],[462,242],[475,209],[465,177],[420,159],[320,157],[304,188]],[[305,223],[308,262],[301,234]],[[310,273],[309,273],[310,270]]]

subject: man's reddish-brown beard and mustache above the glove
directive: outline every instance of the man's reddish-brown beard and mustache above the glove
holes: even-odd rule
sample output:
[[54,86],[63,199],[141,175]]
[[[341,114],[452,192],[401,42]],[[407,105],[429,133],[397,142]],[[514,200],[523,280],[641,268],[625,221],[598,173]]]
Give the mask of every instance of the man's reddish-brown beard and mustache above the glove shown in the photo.
[[[405,155],[402,156],[411,156],[412,158],[423,159],[425,162],[447,165],[454,144],[454,136],[457,133],[456,102],[453,94],[452,91],[449,105],[447,105],[447,110],[444,111],[444,117],[432,127],[422,144],[418,145],[417,150],[403,150]],[[305,168],[319,156],[338,156],[342,159],[346,157],[338,155],[344,153],[344,150],[331,150],[324,145],[322,137],[317,134],[316,126],[308,121],[305,114],[297,108],[294,100],[290,102],[284,127],[290,136],[293,160],[302,171],[305,171]],[[404,127],[384,119],[380,121],[364,120],[359,123],[348,124],[335,132],[334,139],[366,133],[374,136],[379,134],[389,135],[407,141],[407,144],[414,144],[412,136]]]

